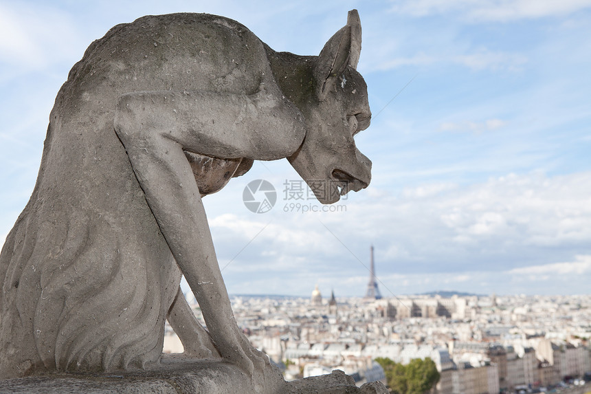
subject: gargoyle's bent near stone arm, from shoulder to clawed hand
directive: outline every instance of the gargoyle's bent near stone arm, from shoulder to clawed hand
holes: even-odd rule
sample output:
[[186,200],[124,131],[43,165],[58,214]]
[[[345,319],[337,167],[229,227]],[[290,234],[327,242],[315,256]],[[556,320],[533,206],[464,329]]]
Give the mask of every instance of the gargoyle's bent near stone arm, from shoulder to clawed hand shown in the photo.
[[115,112],[148,206],[203,311],[220,355],[248,373],[267,358],[234,320],[197,184],[183,149],[212,157],[274,160],[300,146],[300,112],[278,94],[148,91],[125,94]]

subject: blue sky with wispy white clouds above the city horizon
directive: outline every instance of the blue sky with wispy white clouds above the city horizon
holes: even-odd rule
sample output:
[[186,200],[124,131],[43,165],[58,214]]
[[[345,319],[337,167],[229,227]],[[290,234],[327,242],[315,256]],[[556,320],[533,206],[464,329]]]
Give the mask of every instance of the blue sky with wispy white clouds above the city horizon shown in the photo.
[[[373,244],[384,296],[588,294],[590,0],[0,0],[0,241],[32,192],[60,85],[113,25],[208,12],[311,55],[352,8],[374,114],[356,141],[372,184],[338,211],[295,212],[322,206],[285,198],[299,177],[282,160],[205,197],[228,291],[362,295]],[[277,190],[269,212],[243,205],[254,179]]]

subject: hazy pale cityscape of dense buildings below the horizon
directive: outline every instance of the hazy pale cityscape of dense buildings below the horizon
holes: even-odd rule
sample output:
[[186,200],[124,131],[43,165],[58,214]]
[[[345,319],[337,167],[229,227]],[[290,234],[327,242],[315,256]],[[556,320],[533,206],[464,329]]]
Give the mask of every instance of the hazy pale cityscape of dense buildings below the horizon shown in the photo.
[[316,288],[309,299],[232,302],[249,340],[288,380],[342,369],[359,384],[385,381],[376,358],[431,358],[439,394],[514,393],[591,373],[591,296],[323,300]]

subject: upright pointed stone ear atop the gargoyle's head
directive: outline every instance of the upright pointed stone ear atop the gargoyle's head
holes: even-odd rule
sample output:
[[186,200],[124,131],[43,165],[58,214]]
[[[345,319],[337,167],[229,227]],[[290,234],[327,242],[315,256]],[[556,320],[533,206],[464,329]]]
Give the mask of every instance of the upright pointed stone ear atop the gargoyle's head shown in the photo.
[[316,94],[324,100],[331,84],[343,74],[348,65],[357,67],[361,53],[361,21],[357,10],[348,13],[347,25],[329,39],[314,67]]

